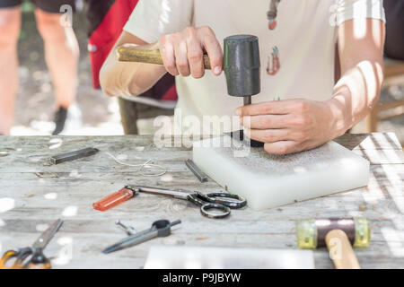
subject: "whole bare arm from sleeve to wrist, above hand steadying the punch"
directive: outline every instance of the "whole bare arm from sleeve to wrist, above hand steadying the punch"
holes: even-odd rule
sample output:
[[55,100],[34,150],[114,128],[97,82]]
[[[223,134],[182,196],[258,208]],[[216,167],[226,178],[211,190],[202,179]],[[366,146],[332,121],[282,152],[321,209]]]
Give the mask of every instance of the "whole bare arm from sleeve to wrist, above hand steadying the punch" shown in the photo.
[[384,23],[353,19],[338,27],[338,53],[342,77],[334,87],[329,107],[335,136],[343,135],[369,115],[382,87]]

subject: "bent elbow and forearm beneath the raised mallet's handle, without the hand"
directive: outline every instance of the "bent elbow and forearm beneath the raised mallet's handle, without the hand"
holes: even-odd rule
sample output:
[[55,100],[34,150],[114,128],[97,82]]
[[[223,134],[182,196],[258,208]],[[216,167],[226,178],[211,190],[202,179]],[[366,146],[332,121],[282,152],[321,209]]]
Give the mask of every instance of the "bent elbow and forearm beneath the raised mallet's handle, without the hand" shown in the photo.
[[112,51],[102,65],[100,83],[109,96],[137,96],[153,87],[165,73],[161,65],[119,62]]

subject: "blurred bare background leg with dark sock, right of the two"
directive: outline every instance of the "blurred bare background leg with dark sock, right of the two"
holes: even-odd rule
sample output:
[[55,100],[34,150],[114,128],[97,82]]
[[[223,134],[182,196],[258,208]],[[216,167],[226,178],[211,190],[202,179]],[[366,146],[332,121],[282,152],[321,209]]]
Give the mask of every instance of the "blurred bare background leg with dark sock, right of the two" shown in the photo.
[[[57,11],[55,13],[45,12],[40,8],[39,1],[37,4],[39,8],[36,9],[35,15],[38,30],[44,40],[45,59],[52,75],[57,97],[56,129],[54,131],[54,135],[57,135],[63,130],[67,109],[75,100],[79,47],[73,28],[61,24],[61,14]],[[57,7],[60,9],[60,6]]]

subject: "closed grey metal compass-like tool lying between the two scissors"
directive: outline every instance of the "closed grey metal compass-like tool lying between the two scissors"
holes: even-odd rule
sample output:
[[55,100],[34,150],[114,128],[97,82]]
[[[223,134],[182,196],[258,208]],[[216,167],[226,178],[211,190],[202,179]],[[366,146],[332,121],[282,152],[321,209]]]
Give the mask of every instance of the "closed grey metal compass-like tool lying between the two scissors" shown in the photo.
[[111,245],[109,248],[105,248],[102,253],[108,254],[124,248],[130,248],[150,239],[155,239],[157,237],[167,237],[171,234],[171,227],[180,224],[180,222],[180,220],[175,222],[169,222],[167,220],[154,222],[150,229],[143,230],[139,233],[128,236],[126,239],[120,240],[118,243]]

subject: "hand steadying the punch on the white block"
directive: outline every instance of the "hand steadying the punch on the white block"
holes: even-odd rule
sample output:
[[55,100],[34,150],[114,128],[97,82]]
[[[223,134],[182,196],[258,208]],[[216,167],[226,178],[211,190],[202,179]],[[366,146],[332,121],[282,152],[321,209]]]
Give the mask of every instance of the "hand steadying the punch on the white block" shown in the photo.
[[344,116],[333,100],[274,100],[236,109],[245,133],[268,153],[318,147],[345,133]]

